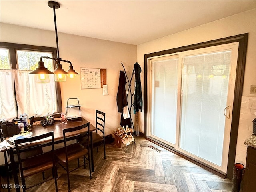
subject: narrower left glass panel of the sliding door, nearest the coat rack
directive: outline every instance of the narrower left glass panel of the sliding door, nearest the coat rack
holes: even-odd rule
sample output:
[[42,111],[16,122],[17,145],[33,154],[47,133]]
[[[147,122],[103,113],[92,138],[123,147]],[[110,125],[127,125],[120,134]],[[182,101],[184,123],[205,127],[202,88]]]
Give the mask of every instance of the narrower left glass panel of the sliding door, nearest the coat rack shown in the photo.
[[152,136],[176,140],[178,55],[152,59]]

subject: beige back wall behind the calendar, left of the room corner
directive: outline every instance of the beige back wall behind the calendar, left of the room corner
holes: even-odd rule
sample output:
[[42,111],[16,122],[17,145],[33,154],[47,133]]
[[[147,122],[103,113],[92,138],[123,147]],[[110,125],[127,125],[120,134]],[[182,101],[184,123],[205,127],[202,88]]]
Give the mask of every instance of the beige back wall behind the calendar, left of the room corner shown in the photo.
[[[1,23],[0,40],[2,42],[56,47],[55,32]],[[81,89],[80,76],[73,80],[67,78],[61,82],[62,109],[66,112],[68,98],[78,98],[84,118],[95,125],[95,110],[106,113],[106,134],[120,125],[120,113],[117,111],[116,94],[119,72],[123,70],[121,62],[130,76],[137,61],[137,46],[58,33],[60,58],[69,60],[74,70],[80,73],[80,67],[106,68],[108,95],[102,94],[102,88]],[[68,70],[68,64],[62,63]]]

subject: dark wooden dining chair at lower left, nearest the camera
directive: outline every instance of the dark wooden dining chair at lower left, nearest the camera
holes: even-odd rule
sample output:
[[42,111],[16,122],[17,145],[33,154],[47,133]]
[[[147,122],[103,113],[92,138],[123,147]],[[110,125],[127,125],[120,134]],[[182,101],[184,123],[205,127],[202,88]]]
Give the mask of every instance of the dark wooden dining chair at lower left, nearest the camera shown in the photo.
[[[40,185],[44,182],[54,179],[55,190],[58,192],[57,186],[57,168],[54,160],[54,133],[48,132],[39,136],[33,136],[31,138],[16,139],[15,148],[18,156],[18,162],[20,166],[20,177],[23,185],[23,191]],[[40,154],[34,153],[34,151],[41,150],[43,147],[51,146],[52,149],[48,152],[42,152]],[[28,155],[29,154],[29,155]],[[42,182],[27,187],[25,178],[37,173],[44,173],[46,170],[52,169],[52,178],[44,179]]]

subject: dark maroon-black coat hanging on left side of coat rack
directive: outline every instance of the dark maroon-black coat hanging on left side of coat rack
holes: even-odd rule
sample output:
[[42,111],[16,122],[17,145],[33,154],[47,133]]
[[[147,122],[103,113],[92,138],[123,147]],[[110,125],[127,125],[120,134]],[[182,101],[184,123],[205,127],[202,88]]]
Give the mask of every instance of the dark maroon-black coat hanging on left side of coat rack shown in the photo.
[[125,119],[124,119],[124,116],[123,116],[123,109],[128,105],[125,85],[126,85],[125,73],[123,71],[120,71],[119,85],[118,85],[118,91],[117,91],[117,96],[116,96],[118,112],[122,113],[120,125],[124,126],[124,127],[126,127],[126,125],[128,127],[131,127],[131,118],[125,117]]

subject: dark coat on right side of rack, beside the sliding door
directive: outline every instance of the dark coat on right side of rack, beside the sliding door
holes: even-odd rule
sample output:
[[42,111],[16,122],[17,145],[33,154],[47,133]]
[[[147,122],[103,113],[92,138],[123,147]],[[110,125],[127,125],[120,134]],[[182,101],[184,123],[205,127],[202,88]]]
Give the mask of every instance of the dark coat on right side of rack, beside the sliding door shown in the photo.
[[142,111],[142,93],[141,93],[141,82],[140,82],[140,72],[141,68],[138,63],[134,64],[135,71],[135,93],[133,100],[133,113],[136,114],[137,111]]

